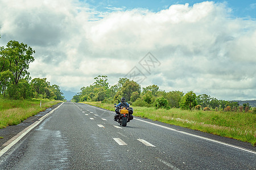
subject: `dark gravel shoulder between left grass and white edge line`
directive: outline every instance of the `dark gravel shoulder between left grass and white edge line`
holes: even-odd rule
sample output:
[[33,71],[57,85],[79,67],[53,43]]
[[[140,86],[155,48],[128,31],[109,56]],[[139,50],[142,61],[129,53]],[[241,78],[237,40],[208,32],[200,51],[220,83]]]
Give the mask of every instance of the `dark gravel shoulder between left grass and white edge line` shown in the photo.
[[9,141],[11,138],[13,138],[15,135],[20,133],[20,131],[26,129],[28,126],[34,124],[35,121],[38,121],[39,118],[43,117],[47,113],[51,112],[52,109],[57,108],[61,103],[58,103],[56,105],[53,105],[51,108],[46,109],[46,111],[39,112],[35,116],[28,117],[26,120],[21,122],[19,125],[13,125],[13,126],[7,126],[6,128],[0,129],[0,137],[3,137],[3,139],[0,139],[0,150],[2,150],[5,147],[5,143]]

